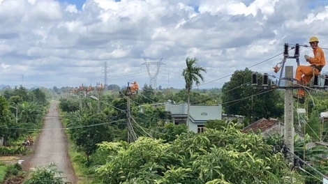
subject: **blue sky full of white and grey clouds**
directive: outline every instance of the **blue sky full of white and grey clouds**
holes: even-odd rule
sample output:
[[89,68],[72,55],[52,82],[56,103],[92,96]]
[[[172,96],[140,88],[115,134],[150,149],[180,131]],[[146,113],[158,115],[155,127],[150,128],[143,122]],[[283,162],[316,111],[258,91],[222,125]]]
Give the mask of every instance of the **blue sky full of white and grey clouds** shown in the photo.
[[[0,0],[0,27],[0,84],[95,85],[107,61],[108,84],[143,86],[157,66],[147,72],[142,63],[163,59],[157,86],[181,89],[186,58],[197,57],[207,68],[199,88],[210,89],[284,43],[317,36],[328,48],[328,0]],[[301,47],[307,65],[304,54],[311,48]],[[278,76],[272,68],[282,58],[250,69]]]

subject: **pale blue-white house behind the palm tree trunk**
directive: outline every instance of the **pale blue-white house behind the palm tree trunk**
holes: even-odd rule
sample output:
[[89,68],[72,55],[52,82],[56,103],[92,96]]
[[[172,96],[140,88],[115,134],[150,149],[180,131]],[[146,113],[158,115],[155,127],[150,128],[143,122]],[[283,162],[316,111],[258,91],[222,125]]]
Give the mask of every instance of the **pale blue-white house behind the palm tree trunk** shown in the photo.
[[191,105],[190,118],[187,120],[188,103],[172,103],[170,100],[165,102],[165,111],[172,114],[175,125],[189,123],[189,130],[193,132],[204,132],[205,123],[209,120],[222,119],[222,105],[205,106]]

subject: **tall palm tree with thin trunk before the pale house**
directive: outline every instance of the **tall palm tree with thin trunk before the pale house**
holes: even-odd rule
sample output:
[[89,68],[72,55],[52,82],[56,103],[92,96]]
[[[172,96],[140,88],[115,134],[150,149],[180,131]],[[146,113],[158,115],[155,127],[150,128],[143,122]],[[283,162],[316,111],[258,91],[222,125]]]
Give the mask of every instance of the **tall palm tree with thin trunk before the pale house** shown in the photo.
[[195,83],[197,86],[200,85],[200,80],[204,82],[204,76],[201,72],[207,72],[205,68],[202,68],[201,66],[197,66],[198,59],[193,58],[190,59],[189,57],[186,58],[186,65],[187,67],[184,68],[182,71],[182,76],[184,77],[184,81],[186,82],[186,89],[188,91],[188,111],[187,111],[187,126],[189,131],[189,118],[190,118],[190,98],[191,98],[191,88],[193,87],[193,84]]

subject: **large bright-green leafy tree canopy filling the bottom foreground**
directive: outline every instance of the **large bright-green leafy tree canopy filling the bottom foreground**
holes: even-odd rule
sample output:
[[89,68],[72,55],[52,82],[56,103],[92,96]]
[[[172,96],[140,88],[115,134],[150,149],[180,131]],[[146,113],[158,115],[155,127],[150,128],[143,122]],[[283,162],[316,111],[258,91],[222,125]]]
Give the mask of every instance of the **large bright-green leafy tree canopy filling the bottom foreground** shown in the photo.
[[[281,153],[263,137],[243,134],[233,125],[202,134],[181,134],[170,143],[140,137],[135,143],[104,142],[106,160],[97,183],[301,183]],[[295,177],[296,181],[290,181]]]

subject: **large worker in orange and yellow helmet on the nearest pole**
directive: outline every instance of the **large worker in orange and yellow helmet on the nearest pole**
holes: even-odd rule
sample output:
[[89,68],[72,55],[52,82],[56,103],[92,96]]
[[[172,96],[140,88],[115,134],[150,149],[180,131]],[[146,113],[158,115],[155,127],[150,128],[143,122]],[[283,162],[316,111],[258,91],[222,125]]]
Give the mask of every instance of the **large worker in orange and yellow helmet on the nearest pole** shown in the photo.
[[[310,57],[305,55],[304,58],[310,66],[297,66],[295,79],[297,84],[306,85],[308,82],[311,82],[311,79],[314,75],[320,75],[322,68],[326,65],[325,54],[322,49],[318,46],[319,40],[317,37],[313,36],[310,38],[310,43],[313,49],[313,56]],[[303,77],[301,77],[304,75]],[[294,95],[296,99],[303,99],[305,96],[304,89],[299,89],[297,95]]]

